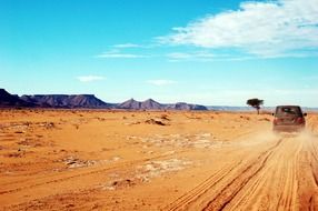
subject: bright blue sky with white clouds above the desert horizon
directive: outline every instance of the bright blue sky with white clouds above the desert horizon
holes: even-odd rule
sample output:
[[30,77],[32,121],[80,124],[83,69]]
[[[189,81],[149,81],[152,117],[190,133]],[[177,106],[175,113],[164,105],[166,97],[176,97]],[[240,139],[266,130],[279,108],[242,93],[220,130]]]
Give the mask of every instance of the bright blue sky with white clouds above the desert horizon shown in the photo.
[[2,0],[0,87],[318,107],[318,0]]

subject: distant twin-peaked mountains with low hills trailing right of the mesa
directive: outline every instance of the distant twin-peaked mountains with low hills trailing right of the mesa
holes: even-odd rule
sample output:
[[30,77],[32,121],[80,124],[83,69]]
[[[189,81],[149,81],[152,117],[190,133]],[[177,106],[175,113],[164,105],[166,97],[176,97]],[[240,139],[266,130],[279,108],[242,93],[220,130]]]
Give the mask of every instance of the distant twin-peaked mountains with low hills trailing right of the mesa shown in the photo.
[[161,104],[152,99],[146,101],[127,100],[117,105],[117,109],[131,110],[208,110],[205,105],[178,102],[176,104]]

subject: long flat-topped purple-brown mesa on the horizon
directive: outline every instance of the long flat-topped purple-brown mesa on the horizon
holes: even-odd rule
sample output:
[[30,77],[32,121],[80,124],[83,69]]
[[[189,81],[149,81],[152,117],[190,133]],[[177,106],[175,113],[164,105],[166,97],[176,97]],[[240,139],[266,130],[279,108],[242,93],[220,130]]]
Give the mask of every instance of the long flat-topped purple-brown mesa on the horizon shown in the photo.
[[106,103],[93,94],[36,94],[22,96],[21,99],[39,107],[51,108],[109,109],[113,107],[113,104]]

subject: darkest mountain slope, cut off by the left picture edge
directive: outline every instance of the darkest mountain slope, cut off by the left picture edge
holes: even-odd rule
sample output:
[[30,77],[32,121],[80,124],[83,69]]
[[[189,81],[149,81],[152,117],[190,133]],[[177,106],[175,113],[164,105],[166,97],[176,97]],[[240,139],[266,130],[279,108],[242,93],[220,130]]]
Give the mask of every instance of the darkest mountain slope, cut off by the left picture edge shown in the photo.
[[21,100],[18,96],[10,94],[4,89],[0,89],[0,107],[36,107],[34,103],[26,102]]

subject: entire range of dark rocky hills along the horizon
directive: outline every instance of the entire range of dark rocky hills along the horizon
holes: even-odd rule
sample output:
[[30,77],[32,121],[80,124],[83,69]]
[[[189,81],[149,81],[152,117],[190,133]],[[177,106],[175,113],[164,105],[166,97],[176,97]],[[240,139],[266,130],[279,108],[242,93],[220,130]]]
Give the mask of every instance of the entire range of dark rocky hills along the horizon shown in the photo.
[[126,110],[208,110],[205,105],[178,102],[162,104],[152,99],[137,101],[133,99],[122,103],[107,103],[93,94],[34,94],[14,96],[0,89],[0,107],[27,107],[27,108],[64,108],[64,109],[126,109]]

